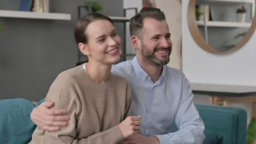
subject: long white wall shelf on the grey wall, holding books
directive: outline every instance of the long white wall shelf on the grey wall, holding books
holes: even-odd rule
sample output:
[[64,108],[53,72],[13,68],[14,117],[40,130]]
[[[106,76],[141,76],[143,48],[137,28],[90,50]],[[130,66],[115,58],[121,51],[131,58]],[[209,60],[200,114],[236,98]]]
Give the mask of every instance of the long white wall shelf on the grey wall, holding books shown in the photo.
[[66,13],[36,13],[15,10],[0,10],[0,17],[44,20],[71,20],[71,14]]

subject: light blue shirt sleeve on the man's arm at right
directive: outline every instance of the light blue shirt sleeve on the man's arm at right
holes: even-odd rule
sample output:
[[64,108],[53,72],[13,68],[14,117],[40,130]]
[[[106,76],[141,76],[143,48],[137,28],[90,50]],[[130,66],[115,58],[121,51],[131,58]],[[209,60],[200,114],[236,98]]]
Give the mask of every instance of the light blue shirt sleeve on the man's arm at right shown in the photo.
[[193,103],[194,94],[185,75],[182,75],[182,92],[175,123],[179,129],[176,132],[156,135],[160,144],[202,144],[204,124]]

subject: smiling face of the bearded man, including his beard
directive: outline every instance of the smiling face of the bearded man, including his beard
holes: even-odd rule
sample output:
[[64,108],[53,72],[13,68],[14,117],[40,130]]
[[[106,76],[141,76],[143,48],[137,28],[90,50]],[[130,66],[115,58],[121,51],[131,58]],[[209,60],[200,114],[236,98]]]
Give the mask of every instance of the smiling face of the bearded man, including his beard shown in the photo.
[[140,32],[142,58],[154,65],[166,65],[172,50],[171,34],[167,22],[151,18],[143,20]]

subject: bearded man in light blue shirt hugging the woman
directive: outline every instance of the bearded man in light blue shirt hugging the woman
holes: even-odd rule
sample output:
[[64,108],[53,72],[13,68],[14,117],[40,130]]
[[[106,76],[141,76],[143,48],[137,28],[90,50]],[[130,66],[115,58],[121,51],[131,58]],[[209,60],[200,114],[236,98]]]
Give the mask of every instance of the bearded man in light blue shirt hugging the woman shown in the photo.
[[[193,93],[184,74],[168,67],[172,43],[169,27],[160,9],[144,7],[130,20],[133,60],[112,66],[131,86],[131,115],[141,115],[139,134],[125,139],[132,144],[201,144],[204,124],[193,103]],[[49,109],[46,101],[31,113],[31,119],[47,131],[67,124],[65,110]],[[169,132],[175,121],[176,132]]]

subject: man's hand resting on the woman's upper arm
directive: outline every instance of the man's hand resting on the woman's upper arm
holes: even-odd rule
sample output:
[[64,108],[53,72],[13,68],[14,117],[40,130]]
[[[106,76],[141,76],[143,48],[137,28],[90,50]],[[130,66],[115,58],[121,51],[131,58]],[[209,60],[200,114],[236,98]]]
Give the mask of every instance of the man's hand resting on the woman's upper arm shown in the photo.
[[45,131],[59,131],[63,126],[66,126],[69,121],[67,111],[64,109],[49,109],[53,107],[51,101],[44,101],[37,108],[34,108],[30,114],[31,120]]

